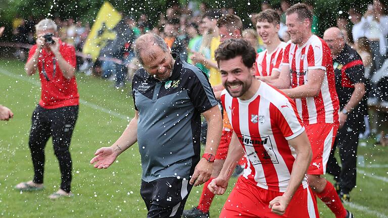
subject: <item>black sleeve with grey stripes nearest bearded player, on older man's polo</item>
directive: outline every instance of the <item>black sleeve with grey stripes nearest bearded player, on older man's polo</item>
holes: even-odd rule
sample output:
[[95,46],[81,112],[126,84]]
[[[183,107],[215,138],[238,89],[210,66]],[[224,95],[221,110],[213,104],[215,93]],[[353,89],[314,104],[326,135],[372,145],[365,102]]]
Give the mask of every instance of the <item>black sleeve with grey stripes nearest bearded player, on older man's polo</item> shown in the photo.
[[195,76],[190,80],[188,95],[194,107],[200,113],[204,113],[218,103],[205,73],[200,69],[192,72]]

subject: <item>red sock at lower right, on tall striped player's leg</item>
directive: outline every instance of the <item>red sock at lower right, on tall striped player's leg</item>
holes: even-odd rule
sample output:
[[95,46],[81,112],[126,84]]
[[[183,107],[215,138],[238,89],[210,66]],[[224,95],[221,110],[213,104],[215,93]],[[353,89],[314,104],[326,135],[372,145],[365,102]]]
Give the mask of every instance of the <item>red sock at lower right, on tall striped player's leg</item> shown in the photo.
[[342,205],[340,197],[338,197],[334,186],[327,181],[325,188],[321,193],[316,193],[317,196],[326,204],[327,207],[335,214],[336,218],[345,218],[348,214],[344,205]]

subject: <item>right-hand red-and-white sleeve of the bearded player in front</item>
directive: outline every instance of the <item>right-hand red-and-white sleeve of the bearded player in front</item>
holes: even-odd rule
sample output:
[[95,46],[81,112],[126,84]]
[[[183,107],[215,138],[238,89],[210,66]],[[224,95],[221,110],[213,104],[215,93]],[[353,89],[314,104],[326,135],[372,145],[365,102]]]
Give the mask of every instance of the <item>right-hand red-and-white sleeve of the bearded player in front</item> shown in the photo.
[[284,138],[290,140],[300,135],[305,128],[298,115],[295,102],[289,98],[285,99],[277,105],[271,103],[270,113],[271,120],[274,119]]

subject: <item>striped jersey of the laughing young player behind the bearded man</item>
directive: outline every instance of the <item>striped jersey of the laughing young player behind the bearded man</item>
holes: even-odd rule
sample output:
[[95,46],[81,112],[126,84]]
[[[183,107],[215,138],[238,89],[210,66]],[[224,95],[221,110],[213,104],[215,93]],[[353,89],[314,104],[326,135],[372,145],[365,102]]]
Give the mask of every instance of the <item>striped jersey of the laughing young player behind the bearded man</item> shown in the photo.
[[280,72],[279,66],[286,45],[287,43],[280,42],[272,53],[265,49],[256,55],[256,76],[271,76],[273,70]]

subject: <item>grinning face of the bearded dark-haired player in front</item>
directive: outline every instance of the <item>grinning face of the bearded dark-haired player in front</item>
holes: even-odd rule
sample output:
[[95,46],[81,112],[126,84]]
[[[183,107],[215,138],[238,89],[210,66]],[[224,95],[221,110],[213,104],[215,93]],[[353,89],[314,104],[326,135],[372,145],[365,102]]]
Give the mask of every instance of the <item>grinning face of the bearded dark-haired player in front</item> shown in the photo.
[[255,65],[248,68],[241,56],[219,61],[222,84],[232,97],[244,98],[255,79]]

